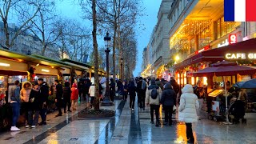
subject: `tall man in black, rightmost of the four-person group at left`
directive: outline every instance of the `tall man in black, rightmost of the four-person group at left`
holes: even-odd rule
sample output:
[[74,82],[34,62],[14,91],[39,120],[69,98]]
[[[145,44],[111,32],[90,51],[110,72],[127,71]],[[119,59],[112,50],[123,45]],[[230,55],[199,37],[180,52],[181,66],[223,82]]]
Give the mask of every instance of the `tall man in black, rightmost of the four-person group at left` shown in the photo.
[[47,114],[47,103],[49,96],[49,86],[46,82],[43,82],[42,78],[38,78],[39,89],[39,105],[40,105],[40,116],[42,122],[39,123],[40,126],[46,125],[46,114]]

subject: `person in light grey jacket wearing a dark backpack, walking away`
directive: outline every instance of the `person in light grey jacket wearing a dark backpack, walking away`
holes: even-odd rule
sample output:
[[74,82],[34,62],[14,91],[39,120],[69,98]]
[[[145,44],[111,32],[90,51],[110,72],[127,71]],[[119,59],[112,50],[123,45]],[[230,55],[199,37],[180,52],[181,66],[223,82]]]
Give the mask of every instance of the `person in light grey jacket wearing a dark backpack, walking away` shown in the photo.
[[146,105],[150,105],[150,116],[151,123],[154,124],[154,111],[156,122],[155,126],[159,126],[159,107],[160,99],[162,95],[162,90],[159,86],[156,85],[155,80],[150,80],[151,85],[146,90]]

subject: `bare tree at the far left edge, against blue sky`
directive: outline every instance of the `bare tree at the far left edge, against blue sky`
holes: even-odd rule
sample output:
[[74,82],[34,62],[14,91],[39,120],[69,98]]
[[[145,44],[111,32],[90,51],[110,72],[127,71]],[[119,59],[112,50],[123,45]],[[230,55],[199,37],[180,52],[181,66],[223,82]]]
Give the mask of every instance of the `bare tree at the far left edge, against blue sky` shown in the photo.
[[[18,35],[29,28],[31,20],[36,17],[43,5],[44,0],[2,0],[0,2],[0,17],[3,22],[7,48],[13,46]],[[19,21],[15,28],[9,26],[10,14]]]

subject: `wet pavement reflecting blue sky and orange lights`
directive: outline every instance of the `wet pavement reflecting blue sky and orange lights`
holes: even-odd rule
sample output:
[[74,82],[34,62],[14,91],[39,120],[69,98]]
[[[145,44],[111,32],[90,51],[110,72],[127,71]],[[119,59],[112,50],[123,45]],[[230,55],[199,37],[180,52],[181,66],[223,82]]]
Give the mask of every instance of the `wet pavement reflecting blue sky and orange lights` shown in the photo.
[[[128,98],[129,99],[129,98]],[[137,103],[137,102],[136,102]],[[78,111],[86,105],[78,106]],[[140,110],[135,106],[133,112],[129,109],[129,101],[116,100],[114,106],[104,106],[102,109],[115,110],[113,118],[79,119],[78,111],[54,118],[49,114],[47,126],[37,126],[35,129],[22,127],[19,132],[0,134],[0,144],[5,143],[186,143],[186,126],[177,121],[173,114],[172,126],[156,127],[150,123],[150,109]],[[161,113],[161,118],[164,114]],[[224,125],[205,118],[201,112],[201,120],[193,126],[196,143],[230,144],[256,143],[256,113],[246,114],[247,124]]]

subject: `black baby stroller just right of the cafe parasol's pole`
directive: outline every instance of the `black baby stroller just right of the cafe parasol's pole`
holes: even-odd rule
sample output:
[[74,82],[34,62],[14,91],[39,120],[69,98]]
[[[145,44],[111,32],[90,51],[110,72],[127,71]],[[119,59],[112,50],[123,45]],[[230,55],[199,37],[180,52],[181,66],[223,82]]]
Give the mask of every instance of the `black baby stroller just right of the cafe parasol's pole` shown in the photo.
[[242,119],[242,123],[246,123],[247,120],[244,118],[246,114],[245,102],[241,100],[234,100],[234,102],[230,102],[229,109],[229,120],[234,124],[238,124],[240,119]]

